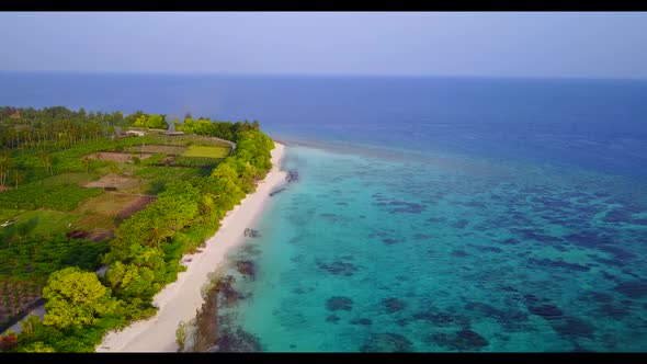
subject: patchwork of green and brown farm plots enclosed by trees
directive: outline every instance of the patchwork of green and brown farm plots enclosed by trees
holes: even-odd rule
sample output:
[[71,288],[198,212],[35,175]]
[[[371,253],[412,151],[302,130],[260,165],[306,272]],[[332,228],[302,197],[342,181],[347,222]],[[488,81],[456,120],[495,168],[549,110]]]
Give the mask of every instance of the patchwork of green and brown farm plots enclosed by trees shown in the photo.
[[208,137],[147,136],[55,151],[52,172],[36,151],[16,156],[24,182],[0,190],[0,223],[12,220],[0,227],[0,329],[41,299],[52,271],[93,269],[125,218],[169,182],[208,175],[228,155]]

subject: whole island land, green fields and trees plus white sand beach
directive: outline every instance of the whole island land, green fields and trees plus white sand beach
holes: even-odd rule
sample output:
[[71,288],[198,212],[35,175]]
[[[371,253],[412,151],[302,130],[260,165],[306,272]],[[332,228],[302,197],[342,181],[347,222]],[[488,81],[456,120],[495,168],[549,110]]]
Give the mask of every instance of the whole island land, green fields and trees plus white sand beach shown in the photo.
[[121,350],[147,330],[157,346],[137,350],[174,351],[209,273],[285,179],[283,146],[256,121],[0,107],[0,145],[9,352]]

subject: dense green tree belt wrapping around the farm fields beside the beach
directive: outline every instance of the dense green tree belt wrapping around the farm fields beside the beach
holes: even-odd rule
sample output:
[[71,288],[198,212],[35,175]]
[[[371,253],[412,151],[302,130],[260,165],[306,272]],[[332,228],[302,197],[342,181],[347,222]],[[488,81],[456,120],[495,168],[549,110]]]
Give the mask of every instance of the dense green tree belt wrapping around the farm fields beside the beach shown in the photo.
[[[21,132],[25,125],[30,130]],[[84,139],[101,138],[120,125],[167,127],[166,115],[140,111],[123,117],[121,113],[88,114],[65,107],[0,107],[0,126],[8,127],[0,130],[0,143],[9,148],[43,147],[41,156],[24,158],[42,163],[44,171],[53,164],[53,152],[46,147],[67,148]],[[254,191],[257,182],[272,167],[270,151],[274,144],[260,130],[258,122],[212,122],[202,117],[194,121],[186,115],[177,129],[231,140],[237,147],[207,177],[168,183],[157,201],[124,220],[102,259],[110,269],[101,280],[76,266],[52,273],[43,289],[47,299],[45,318],[23,321],[29,329],[11,350],[93,351],[106,330],[154,315],[152,298],[177,280],[182,271],[181,257],[213,236],[225,214],[246,193]],[[2,169],[2,162],[0,182],[11,168],[9,163]],[[83,164],[79,158],[75,168],[87,171],[88,162]],[[14,248],[7,249],[12,252]]]

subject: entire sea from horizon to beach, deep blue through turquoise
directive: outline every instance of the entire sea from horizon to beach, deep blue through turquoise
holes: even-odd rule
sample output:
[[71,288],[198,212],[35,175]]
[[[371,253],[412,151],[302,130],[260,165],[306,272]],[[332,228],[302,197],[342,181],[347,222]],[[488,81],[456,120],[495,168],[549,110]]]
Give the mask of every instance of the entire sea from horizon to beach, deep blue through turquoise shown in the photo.
[[241,345],[647,350],[647,81],[0,73],[0,104],[286,141],[299,181],[228,263]]

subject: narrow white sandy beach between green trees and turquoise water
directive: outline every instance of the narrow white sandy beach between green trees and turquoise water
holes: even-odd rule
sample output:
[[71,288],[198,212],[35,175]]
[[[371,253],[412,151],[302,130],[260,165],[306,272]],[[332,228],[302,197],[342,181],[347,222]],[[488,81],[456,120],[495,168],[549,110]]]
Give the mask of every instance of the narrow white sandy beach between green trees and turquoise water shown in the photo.
[[201,288],[208,282],[208,273],[215,271],[225,260],[229,249],[243,240],[243,231],[253,227],[270,198],[269,193],[285,181],[286,173],[280,171],[284,146],[275,143],[272,150],[272,170],[259,183],[257,191],[247,195],[241,204],[230,211],[222,221],[219,230],[206,241],[201,253],[191,255],[186,272],[178,274],[178,281],[167,285],[155,296],[159,307],[157,315],[148,320],[136,321],[123,331],[109,332],[98,352],[175,352],[175,330],[181,321],[195,317],[202,307]]

